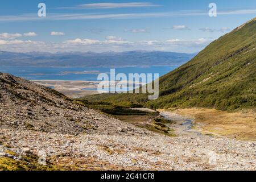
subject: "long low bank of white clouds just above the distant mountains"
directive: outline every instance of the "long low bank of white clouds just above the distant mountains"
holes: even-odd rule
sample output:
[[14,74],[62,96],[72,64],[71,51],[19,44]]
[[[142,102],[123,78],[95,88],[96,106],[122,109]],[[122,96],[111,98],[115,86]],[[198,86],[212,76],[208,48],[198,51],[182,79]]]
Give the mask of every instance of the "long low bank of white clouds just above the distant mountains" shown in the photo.
[[130,42],[116,36],[108,36],[105,40],[94,39],[72,39],[61,43],[54,42],[33,42],[31,40],[2,40],[0,39],[0,49],[11,52],[63,52],[63,51],[174,51],[174,52],[197,52],[207,46],[212,39],[200,38],[193,40],[144,40]]

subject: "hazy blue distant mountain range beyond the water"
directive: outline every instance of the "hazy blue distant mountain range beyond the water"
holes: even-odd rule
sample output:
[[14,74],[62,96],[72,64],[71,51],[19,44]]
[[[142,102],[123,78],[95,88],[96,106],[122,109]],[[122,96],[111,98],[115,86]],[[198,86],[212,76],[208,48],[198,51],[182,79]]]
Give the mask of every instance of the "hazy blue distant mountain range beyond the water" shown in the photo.
[[11,67],[131,67],[182,65],[196,54],[130,51],[130,52],[29,52],[0,51],[0,66]]

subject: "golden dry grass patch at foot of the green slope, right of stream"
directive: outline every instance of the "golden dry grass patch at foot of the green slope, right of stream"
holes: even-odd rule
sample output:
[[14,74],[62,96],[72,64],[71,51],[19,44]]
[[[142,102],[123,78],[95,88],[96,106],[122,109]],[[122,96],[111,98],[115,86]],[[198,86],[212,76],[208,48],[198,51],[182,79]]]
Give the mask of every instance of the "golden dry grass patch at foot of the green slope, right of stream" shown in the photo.
[[174,113],[195,119],[195,128],[204,134],[256,140],[256,110],[241,110],[229,113],[216,109],[168,109]]

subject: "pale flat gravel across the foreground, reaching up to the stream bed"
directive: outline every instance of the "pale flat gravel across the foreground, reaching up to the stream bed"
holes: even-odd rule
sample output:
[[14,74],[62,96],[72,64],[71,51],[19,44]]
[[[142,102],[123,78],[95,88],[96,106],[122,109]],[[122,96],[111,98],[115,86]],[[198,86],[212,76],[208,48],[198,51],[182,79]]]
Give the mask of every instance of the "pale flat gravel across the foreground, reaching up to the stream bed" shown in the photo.
[[[35,155],[43,151],[54,166],[49,169],[256,170],[255,142],[197,133],[186,123],[188,115],[177,114],[182,112],[185,110],[161,113],[175,121],[177,137],[144,133],[143,129],[138,132],[139,128],[126,134],[123,126],[118,133],[79,135],[5,129],[0,131],[0,156],[18,158],[24,155],[24,148]],[[8,166],[1,159],[0,169]]]

